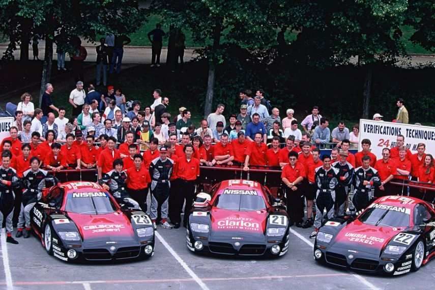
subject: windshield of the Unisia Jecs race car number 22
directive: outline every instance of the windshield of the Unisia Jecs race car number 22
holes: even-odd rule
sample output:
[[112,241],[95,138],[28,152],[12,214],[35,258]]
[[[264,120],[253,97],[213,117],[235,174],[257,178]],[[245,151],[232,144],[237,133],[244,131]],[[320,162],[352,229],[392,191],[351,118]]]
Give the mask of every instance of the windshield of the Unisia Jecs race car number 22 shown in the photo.
[[388,227],[408,227],[410,225],[410,215],[401,213],[393,209],[368,208],[359,220],[368,225],[388,226]]

